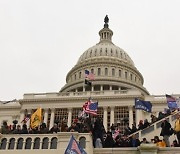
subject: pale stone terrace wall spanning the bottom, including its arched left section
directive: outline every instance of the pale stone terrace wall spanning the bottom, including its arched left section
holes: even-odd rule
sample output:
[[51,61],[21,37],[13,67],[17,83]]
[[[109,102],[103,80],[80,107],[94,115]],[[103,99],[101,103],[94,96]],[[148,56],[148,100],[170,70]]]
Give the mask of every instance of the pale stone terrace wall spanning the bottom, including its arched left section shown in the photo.
[[3,134],[0,154],[64,154],[73,135],[87,154],[179,154],[178,148],[158,148],[155,144],[142,144],[137,148],[93,148],[89,133],[61,132],[57,134]]

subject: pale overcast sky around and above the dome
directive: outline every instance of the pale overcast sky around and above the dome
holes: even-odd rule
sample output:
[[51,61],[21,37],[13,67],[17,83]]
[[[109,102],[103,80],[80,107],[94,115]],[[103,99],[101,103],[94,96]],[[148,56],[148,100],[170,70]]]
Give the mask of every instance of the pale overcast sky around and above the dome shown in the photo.
[[0,100],[58,92],[106,14],[151,94],[180,94],[179,0],[0,0]]

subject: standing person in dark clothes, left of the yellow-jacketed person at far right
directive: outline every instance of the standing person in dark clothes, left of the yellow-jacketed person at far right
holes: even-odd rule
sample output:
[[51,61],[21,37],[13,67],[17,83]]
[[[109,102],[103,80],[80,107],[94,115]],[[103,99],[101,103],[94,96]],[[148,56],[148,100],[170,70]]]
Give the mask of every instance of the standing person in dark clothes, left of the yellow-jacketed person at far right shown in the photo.
[[163,139],[167,147],[170,147],[170,143],[169,143],[169,137],[171,135],[170,129],[171,129],[171,124],[167,121],[167,119],[164,119],[161,124],[160,136],[163,136]]

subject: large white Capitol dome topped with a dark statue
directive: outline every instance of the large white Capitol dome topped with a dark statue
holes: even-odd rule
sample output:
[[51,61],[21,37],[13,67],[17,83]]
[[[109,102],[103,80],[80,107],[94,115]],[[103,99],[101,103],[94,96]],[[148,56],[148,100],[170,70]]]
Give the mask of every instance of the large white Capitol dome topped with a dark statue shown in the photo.
[[[149,94],[143,87],[143,76],[130,56],[113,44],[113,31],[109,29],[107,19],[103,29],[99,31],[99,43],[80,56],[77,64],[67,74],[66,84],[60,92],[136,89],[145,95]],[[91,87],[84,85],[85,70],[95,76]]]

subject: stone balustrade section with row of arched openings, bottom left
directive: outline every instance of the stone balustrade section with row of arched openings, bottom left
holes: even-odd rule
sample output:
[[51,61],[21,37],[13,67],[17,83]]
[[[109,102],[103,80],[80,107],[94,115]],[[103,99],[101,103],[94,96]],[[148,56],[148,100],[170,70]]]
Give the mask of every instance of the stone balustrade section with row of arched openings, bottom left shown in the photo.
[[[0,138],[0,153],[24,153],[38,154],[64,153],[71,135],[79,142],[88,154],[93,154],[92,137],[89,133],[61,132],[57,134],[3,134]],[[36,153],[37,154],[37,153]]]

